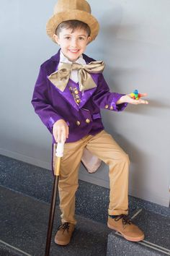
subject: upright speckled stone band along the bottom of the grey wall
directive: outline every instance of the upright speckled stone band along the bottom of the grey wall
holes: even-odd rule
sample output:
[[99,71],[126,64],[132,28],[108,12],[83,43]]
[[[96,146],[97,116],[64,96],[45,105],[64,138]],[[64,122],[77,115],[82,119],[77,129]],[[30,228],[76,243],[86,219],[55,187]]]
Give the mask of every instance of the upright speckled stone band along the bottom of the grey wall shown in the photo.
[[[0,155],[0,185],[35,197],[37,200],[50,202],[53,175],[45,168]],[[76,192],[76,214],[106,224],[108,205],[109,189],[79,180],[79,189]],[[131,196],[129,196],[129,208],[130,216],[138,208],[164,216],[170,215],[170,208]]]

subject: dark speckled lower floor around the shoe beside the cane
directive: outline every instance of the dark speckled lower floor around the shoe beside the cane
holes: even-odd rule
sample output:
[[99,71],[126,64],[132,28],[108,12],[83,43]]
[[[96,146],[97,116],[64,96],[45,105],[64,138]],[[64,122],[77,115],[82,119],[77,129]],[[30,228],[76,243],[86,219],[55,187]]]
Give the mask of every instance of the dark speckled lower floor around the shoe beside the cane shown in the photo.
[[[0,195],[0,255],[44,255],[50,205],[4,187],[0,187]],[[61,224],[60,214],[57,209],[53,239]],[[62,247],[52,239],[50,256],[106,255],[107,226],[81,216],[76,219],[71,243]]]

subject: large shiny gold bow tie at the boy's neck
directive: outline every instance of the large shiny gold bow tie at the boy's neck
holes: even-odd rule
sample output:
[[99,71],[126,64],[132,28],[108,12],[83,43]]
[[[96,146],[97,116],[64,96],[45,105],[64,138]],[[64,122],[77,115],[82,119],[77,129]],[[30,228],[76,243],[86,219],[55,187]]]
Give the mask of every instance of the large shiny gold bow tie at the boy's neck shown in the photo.
[[91,61],[89,64],[81,65],[79,63],[64,63],[59,69],[48,76],[50,82],[53,83],[62,92],[65,90],[71,71],[78,70],[78,80],[80,91],[89,90],[97,87],[90,73],[101,73],[104,70],[103,61]]

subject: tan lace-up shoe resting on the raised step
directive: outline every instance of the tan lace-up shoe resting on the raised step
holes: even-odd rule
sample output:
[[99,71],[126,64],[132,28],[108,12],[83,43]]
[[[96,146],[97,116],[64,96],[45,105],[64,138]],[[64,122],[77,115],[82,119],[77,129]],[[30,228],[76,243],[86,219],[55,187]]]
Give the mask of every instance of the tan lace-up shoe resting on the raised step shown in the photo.
[[123,214],[116,218],[108,217],[107,226],[110,229],[120,232],[129,241],[138,242],[144,239],[143,231],[138,226],[135,226],[128,216]]

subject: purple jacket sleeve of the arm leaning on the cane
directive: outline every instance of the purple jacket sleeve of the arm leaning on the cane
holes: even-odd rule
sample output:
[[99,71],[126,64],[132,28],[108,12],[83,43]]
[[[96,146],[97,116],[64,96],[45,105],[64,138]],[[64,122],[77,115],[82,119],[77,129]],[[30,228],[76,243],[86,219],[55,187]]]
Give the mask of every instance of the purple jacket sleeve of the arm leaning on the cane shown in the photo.
[[48,92],[48,78],[43,67],[40,67],[40,72],[35,83],[35,89],[32,95],[32,106],[35,108],[35,113],[40,117],[43,124],[48,128],[50,133],[53,132],[53,124],[59,119],[63,119],[50,104]]

